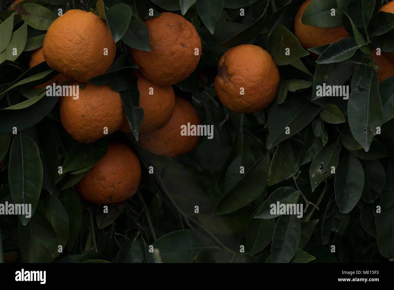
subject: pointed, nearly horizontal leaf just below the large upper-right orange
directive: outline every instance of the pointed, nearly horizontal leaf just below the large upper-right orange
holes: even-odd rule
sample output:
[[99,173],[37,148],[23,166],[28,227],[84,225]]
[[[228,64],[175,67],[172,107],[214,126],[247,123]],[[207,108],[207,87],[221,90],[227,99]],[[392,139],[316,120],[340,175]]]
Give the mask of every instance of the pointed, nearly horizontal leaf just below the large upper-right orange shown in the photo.
[[332,43],[316,60],[318,64],[331,64],[342,62],[351,58],[360,47],[365,44],[357,44],[353,37],[342,38]]

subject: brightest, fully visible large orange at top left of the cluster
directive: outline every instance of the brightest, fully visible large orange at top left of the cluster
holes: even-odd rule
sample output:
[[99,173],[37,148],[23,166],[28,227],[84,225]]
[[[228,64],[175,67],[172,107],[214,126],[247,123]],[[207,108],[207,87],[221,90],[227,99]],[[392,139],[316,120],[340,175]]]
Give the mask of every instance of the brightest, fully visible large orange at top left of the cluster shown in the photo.
[[79,82],[86,82],[108,71],[115,59],[116,43],[108,25],[100,17],[72,9],[49,26],[43,49],[50,67]]

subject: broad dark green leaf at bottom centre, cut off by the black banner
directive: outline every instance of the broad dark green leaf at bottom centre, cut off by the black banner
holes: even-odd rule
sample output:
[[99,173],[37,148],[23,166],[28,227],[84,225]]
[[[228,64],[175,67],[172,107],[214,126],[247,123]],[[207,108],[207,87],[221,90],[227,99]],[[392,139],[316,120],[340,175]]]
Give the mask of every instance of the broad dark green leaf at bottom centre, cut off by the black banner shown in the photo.
[[[197,253],[214,243],[194,230],[177,230],[161,236],[152,245],[160,251],[164,263],[190,263]],[[151,253],[147,253],[147,260],[153,262]]]

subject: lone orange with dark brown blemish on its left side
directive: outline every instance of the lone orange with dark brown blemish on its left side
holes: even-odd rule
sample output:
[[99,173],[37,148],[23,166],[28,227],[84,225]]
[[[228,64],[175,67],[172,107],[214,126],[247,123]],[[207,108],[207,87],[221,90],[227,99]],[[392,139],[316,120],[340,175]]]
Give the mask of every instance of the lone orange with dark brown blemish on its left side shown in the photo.
[[217,69],[215,91],[230,110],[254,113],[275,99],[279,71],[271,55],[261,47],[251,44],[232,47],[220,58]]

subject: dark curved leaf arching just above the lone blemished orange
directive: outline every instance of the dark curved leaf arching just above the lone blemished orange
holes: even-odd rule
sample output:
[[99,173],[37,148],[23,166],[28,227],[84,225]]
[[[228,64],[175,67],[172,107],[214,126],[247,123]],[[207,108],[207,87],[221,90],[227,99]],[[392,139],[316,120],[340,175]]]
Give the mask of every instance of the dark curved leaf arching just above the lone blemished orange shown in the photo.
[[264,11],[260,15],[260,17],[255,22],[253,22],[253,24],[243,29],[242,31],[238,32],[236,35],[230,37],[226,41],[220,43],[219,45],[222,47],[234,47],[236,45],[241,45],[248,41],[251,41],[256,36],[258,36],[258,34],[261,32],[262,28],[265,25],[266,19],[263,16],[267,12],[269,1],[264,0],[263,3],[266,3]]

